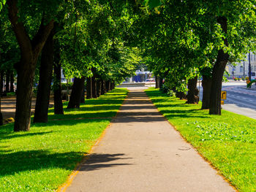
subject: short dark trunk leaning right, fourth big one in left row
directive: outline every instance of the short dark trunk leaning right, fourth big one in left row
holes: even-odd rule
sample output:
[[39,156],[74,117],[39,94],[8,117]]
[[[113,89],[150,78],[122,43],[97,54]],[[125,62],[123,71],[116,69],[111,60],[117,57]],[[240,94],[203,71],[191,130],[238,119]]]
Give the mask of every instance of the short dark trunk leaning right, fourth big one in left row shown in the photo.
[[72,86],[72,92],[69,99],[67,109],[80,108],[80,101],[83,92],[84,82],[86,77],[82,76],[80,79],[75,77],[74,84]]

